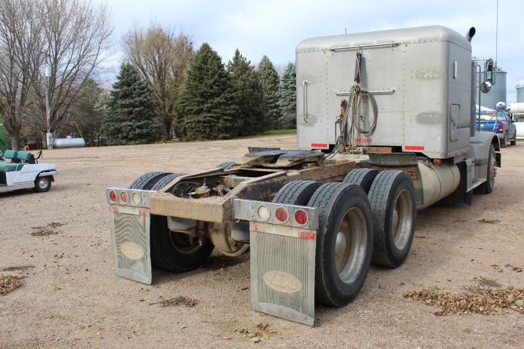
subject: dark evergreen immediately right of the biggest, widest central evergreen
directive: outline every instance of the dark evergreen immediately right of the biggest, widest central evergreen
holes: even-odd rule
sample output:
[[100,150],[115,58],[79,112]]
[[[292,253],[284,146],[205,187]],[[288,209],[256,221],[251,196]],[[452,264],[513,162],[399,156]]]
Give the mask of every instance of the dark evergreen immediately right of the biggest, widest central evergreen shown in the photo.
[[235,87],[238,106],[238,134],[253,135],[269,128],[264,105],[264,88],[260,75],[240,51],[227,63]]

